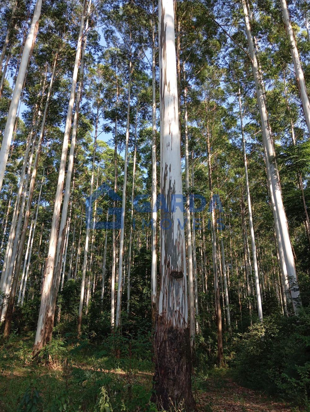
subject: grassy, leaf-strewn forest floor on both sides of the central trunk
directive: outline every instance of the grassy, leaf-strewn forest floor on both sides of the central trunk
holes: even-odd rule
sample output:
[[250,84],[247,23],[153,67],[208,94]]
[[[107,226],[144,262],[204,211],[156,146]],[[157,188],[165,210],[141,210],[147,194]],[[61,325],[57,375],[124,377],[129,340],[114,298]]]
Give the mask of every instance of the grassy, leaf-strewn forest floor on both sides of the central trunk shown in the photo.
[[[55,339],[38,363],[31,357],[32,342],[33,335],[28,335],[0,344],[0,412],[99,411],[96,403],[102,387],[114,412],[154,411],[145,407],[152,390],[151,359],[115,358],[103,347],[87,344],[68,350]],[[197,373],[193,386],[201,412],[299,411],[239,386],[228,369]],[[33,397],[36,409],[30,409]]]

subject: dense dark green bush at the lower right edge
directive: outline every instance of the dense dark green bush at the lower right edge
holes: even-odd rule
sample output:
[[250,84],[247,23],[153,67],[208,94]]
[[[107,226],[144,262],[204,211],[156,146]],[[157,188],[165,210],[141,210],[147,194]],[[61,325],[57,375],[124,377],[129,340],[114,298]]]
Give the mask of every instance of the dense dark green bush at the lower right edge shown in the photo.
[[266,317],[240,335],[231,365],[242,384],[310,404],[310,310],[298,317]]

